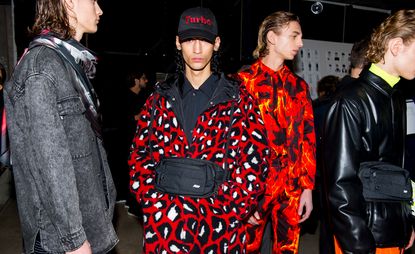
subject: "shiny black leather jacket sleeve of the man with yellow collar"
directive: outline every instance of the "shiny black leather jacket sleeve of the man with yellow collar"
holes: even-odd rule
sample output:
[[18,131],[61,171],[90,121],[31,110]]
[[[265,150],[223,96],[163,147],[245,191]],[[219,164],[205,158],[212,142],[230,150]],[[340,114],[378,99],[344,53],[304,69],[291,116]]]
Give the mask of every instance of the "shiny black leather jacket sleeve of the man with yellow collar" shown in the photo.
[[323,130],[329,216],[344,253],[375,250],[373,235],[366,226],[362,185],[357,175],[364,147],[362,109],[359,99],[338,99],[327,113]]

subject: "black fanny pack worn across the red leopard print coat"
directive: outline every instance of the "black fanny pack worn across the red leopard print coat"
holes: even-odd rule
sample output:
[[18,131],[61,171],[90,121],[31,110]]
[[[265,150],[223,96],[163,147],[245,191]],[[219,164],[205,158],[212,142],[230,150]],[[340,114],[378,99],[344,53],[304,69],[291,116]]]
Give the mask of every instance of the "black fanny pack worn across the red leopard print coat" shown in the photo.
[[205,198],[228,179],[228,170],[214,162],[191,158],[164,158],[156,166],[157,191]]

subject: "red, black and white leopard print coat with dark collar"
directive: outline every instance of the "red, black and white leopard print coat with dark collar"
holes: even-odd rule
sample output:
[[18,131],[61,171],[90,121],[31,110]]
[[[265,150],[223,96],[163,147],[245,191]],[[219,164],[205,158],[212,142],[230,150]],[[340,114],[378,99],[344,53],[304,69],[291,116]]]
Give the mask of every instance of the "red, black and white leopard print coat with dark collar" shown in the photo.
[[[219,82],[216,96],[197,120],[190,145],[181,123],[177,79],[161,84],[141,112],[129,165],[131,190],[143,209],[145,253],[245,252],[243,221],[256,208],[258,196],[264,191],[268,144],[253,98],[224,75]],[[228,130],[232,104],[234,118]],[[152,113],[154,121],[150,123]],[[154,189],[154,162],[163,157],[204,159],[223,166],[228,131],[231,177],[217,194],[198,199]],[[149,154],[149,138],[154,162]]]

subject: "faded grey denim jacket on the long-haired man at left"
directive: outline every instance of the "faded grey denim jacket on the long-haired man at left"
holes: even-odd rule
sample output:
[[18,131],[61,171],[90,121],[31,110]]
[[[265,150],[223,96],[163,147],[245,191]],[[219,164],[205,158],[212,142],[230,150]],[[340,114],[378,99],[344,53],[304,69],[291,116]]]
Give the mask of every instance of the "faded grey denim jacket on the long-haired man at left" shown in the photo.
[[24,253],[33,252],[37,234],[51,253],[74,250],[85,240],[93,253],[107,253],[118,242],[114,183],[75,75],[57,52],[39,46],[4,88]]

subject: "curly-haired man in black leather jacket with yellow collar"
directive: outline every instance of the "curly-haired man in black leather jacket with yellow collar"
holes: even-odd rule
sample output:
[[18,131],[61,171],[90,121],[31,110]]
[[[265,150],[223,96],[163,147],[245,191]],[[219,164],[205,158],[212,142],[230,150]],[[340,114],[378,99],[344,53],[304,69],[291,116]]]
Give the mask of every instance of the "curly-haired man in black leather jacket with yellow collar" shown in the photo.
[[359,173],[368,162],[403,166],[406,103],[396,84],[415,78],[415,10],[383,21],[366,56],[369,66],[335,96],[323,126],[329,218],[337,254],[398,254],[414,239],[410,202],[371,199]]

